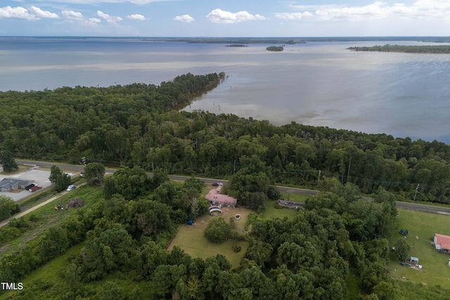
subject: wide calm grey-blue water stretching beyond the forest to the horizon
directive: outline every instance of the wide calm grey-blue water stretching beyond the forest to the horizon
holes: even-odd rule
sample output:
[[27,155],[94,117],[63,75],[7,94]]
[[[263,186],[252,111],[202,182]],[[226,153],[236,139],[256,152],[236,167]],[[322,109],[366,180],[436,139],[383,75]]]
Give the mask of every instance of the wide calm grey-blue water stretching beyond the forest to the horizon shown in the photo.
[[418,44],[311,42],[273,53],[264,44],[2,38],[0,90],[159,84],[186,72],[225,72],[224,84],[186,110],[450,143],[450,55],[345,50],[387,43]]

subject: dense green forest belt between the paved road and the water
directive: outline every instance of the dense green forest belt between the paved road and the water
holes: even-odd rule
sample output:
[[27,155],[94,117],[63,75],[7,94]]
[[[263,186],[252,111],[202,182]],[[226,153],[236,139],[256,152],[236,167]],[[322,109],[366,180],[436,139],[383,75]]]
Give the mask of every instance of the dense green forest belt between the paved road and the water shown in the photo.
[[131,84],[0,93],[0,148],[15,157],[117,162],[146,171],[231,178],[259,157],[274,183],[315,188],[322,176],[449,203],[450,146],[292,122],[173,110],[225,75],[186,74]]

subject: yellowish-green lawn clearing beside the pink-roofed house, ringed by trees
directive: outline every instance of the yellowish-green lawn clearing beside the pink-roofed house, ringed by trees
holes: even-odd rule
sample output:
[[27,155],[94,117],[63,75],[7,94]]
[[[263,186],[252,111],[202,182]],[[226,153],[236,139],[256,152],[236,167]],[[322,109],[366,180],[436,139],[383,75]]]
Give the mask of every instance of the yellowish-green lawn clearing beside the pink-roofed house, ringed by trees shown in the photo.
[[[248,215],[255,213],[255,211],[245,208],[224,207],[222,210],[224,212],[221,217],[226,222],[229,222],[230,218],[234,219],[236,214],[240,214],[240,220],[235,219],[233,222],[234,229],[239,233],[245,233],[244,227]],[[242,247],[238,253],[233,252],[232,246],[233,242],[235,242],[233,240],[227,240],[220,244],[210,242],[203,235],[203,231],[212,218],[210,214],[204,214],[195,220],[195,225],[181,225],[168,249],[171,250],[174,246],[178,246],[193,258],[200,257],[202,259],[216,254],[223,254],[230,261],[233,268],[237,268],[240,259],[247,251],[248,242],[237,242]]]

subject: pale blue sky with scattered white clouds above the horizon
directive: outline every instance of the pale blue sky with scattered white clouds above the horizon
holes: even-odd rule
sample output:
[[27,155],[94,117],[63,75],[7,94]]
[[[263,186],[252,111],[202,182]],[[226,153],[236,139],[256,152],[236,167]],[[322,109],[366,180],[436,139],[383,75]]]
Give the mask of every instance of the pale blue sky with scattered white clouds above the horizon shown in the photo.
[[450,36],[450,1],[1,0],[0,36]]

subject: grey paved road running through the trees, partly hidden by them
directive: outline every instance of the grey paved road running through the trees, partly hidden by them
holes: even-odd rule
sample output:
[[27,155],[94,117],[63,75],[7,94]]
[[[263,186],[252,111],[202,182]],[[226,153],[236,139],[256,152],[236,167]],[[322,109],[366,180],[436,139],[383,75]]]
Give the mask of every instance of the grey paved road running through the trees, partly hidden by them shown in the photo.
[[[82,165],[75,165],[75,164],[59,164],[59,163],[51,163],[51,162],[37,162],[37,161],[30,161],[30,160],[22,160],[18,159],[15,162],[18,164],[35,164],[37,166],[41,167],[48,167],[50,168],[53,164],[56,164],[60,169],[66,169],[71,171],[83,171],[84,166]],[[106,173],[110,174],[113,173],[115,169],[106,169]],[[148,176],[152,176],[151,173],[148,173]],[[169,175],[169,178],[172,180],[179,180],[183,181],[185,179],[191,178],[190,176],[178,176],[178,175]],[[211,179],[211,178],[199,178],[200,180],[205,181],[205,183],[215,183],[215,182],[223,182],[227,183],[228,181],[223,179]],[[307,190],[304,188],[287,188],[284,186],[277,186],[278,190],[280,190],[283,193],[293,193],[293,194],[303,194],[303,195],[316,195],[319,193],[318,190]],[[373,200],[370,197],[364,197],[364,200]],[[435,207],[432,205],[426,205],[426,204],[417,204],[417,203],[411,203],[411,202],[398,202],[397,201],[397,207],[399,209],[412,209],[417,211],[424,211],[431,214],[444,214],[450,216],[450,207]],[[25,211],[24,211],[25,212]]]

